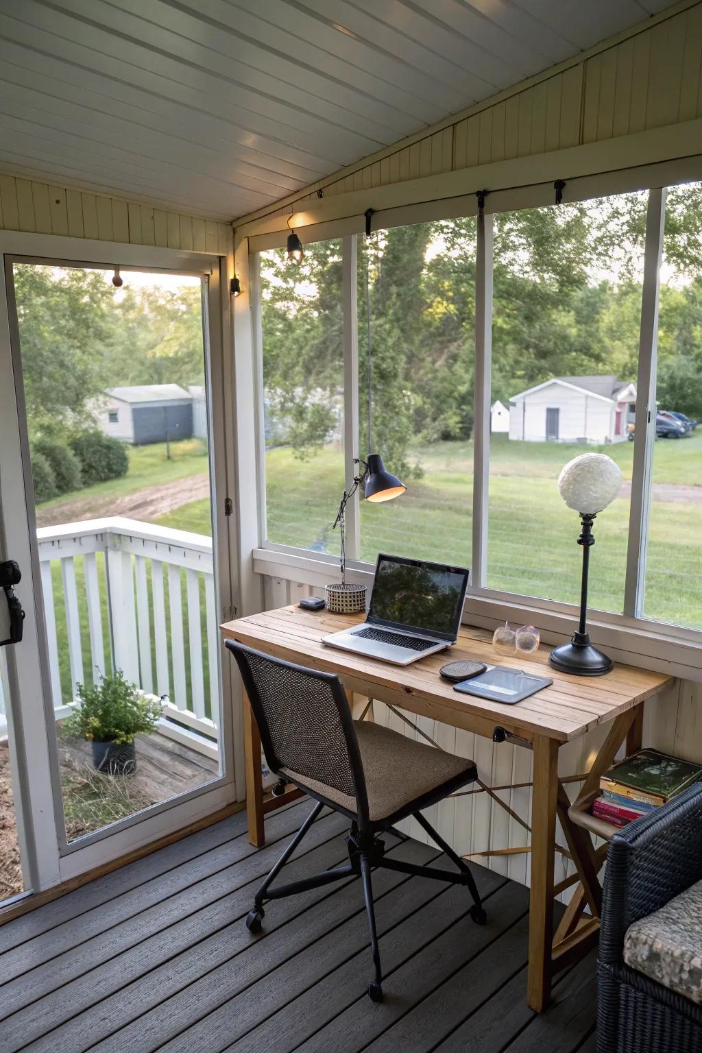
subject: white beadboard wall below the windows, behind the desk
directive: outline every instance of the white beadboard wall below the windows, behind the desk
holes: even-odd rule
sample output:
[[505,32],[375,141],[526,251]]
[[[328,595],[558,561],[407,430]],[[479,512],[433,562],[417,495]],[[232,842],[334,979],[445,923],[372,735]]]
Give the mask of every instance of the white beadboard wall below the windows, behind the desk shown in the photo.
[[[324,591],[290,581],[285,578],[264,576],[264,604],[266,610],[297,603],[303,596],[323,596]],[[360,713],[365,699],[356,698],[354,710]],[[494,743],[480,735],[449,728],[447,724],[418,717],[406,712],[405,716],[416,723],[442,749],[462,757],[470,757],[478,766],[481,779],[489,786],[508,786],[531,780],[530,750],[507,742]],[[374,704],[374,719],[385,727],[410,735],[418,741],[425,741],[401,718],[392,713],[382,702]],[[567,742],[559,752],[559,774],[578,775],[586,772],[607,733],[608,726],[594,729],[581,739]],[[702,760],[702,683],[677,680],[657,698],[645,703],[643,744],[653,746],[666,753],[689,760]],[[571,798],[580,783],[568,783],[566,789]],[[529,821],[531,791],[529,789],[506,790],[499,796],[525,821]],[[504,809],[496,804],[485,793],[452,797],[427,810],[427,818],[439,833],[461,855],[494,851],[496,849],[518,848],[529,843],[529,835]],[[415,819],[400,824],[412,837],[426,841],[424,831]],[[565,838],[557,828],[557,840],[566,848]],[[487,866],[499,874],[529,883],[530,857],[528,853],[505,856],[476,856],[476,861]],[[574,873],[568,860],[557,856],[556,881]],[[566,890],[561,899],[567,902],[571,890]]]

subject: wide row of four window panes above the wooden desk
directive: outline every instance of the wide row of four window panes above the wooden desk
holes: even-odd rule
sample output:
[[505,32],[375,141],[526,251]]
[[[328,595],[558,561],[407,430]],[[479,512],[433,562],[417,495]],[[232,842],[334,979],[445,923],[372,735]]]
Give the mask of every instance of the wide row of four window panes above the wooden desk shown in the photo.
[[702,629],[702,184],[667,192],[657,301],[660,201],[506,212],[496,193],[484,227],[466,217],[312,242],[299,267],[262,253],[265,540],[337,554],[350,458],[379,453],[407,491],[358,499],[352,562],[477,555],[469,591],[486,602],[575,608],[580,523],[557,480],[604,453],[623,479],[595,524],[590,607]]

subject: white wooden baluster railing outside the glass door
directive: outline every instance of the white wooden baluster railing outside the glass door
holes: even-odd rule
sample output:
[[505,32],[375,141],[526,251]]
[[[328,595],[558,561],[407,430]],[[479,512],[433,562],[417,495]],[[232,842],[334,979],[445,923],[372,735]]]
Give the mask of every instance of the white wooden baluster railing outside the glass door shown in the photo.
[[[68,712],[77,684],[112,664],[145,694],[164,699],[165,734],[216,756],[212,538],[111,517],[42,526],[37,540],[57,719]],[[67,652],[68,694],[60,648]]]

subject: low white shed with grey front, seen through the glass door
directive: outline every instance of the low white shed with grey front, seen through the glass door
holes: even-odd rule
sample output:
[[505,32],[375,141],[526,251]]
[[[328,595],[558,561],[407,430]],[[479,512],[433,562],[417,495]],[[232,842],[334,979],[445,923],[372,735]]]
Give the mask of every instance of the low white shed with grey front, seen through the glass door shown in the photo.
[[105,435],[135,446],[193,435],[193,395],[179,384],[107,388],[93,415]]

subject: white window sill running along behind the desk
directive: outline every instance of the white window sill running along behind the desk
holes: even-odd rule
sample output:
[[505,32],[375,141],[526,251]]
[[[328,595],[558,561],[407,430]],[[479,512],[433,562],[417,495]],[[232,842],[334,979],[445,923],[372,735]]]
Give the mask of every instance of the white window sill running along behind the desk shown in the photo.
[[[323,589],[339,580],[339,560],[323,553],[307,554],[302,549],[268,545],[253,552],[254,572],[274,578],[297,581]],[[347,563],[348,581],[370,587],[370,563]],[[490,595],[488,591],[468,590],[463,620],[472,625],[494,630],[504,621],[536,625],[544,643],[564,643],[576,628],[577,609],[567,604],[535,601],[529,597]],[[617,615],[594,611],[588,618],[593,643],[606,650],[616,661],[641,669],[670,673],[685,680],[702,682],[702,633],[658,627]],[[696,639],[698,637],[698,639]]]

